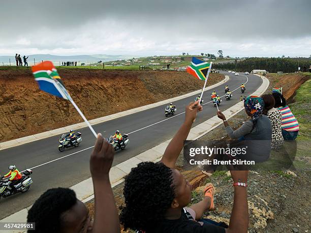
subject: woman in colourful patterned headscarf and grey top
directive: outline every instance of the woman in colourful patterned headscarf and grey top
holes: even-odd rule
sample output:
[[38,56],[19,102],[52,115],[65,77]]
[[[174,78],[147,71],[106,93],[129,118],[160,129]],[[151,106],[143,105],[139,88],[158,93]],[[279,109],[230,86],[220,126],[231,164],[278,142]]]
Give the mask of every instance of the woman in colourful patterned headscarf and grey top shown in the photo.
[[226,131],[231,139],[245,140],[248,159],[257,162],[266,161],[271,151],[272,127],[269,118],[263,115],[264,101],[258,96],[248,96],[244,101],[245,112],[252,119],[247,120],[236,130],[228,124],[225,115],[217,112],[217,116],[224,121]]

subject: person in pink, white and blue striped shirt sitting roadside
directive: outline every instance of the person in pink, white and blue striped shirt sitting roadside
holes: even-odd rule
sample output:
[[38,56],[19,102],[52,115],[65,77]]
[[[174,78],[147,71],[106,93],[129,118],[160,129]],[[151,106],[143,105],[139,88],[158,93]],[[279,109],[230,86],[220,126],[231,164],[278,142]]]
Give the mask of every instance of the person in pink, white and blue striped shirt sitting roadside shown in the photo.
[[284,140],[295,140],[299,131],[299,124],[292,111],[286,104],[286,99],[280,93],[272,93],[275,99],[274,108],[282,113],[282,135]]

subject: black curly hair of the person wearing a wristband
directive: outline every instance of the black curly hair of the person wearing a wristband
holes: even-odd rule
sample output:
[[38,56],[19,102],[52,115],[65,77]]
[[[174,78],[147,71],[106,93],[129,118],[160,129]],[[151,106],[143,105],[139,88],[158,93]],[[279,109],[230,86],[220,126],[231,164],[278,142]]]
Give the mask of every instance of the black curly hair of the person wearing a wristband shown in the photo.
[[175,198],[172,170],[163,163],[139,163],[126,177],[123,195],[120,222],[125,230],[150,230],[164,219]]

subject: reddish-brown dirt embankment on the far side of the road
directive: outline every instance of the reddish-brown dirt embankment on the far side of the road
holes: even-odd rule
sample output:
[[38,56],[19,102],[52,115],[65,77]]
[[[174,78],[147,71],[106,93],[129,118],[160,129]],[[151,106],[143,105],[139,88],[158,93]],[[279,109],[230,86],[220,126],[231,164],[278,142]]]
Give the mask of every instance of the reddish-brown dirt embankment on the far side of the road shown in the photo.
[[[185,72],[63,69],[60,77],[90,119],[202,88]],[[207,85],[224,79],[211,74]],[[69,101],[40,91],[29,70],[0,70],[0,142],[82,122]]]

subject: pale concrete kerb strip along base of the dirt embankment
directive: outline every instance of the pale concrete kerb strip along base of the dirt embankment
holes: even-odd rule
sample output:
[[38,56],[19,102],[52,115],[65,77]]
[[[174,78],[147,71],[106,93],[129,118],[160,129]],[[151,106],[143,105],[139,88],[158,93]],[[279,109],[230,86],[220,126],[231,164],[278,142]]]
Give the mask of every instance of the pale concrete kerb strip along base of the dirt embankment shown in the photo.
[[[220,86],[223,83],[227,82],[228,80],[229,80],[229,76],[226,75],[224,80],[220,81],[219,83],[216,83],[214,85],[211,85],[211,86],[207,87],[205,90],[210,90],[210,89],[212,89],[212,88],[214,88],[216,86]],[[151,109],[151,108],[154,108],[154,107],[165,105],[165,104],[170,103],[170,102],[178,101],[179,99],[186,98],[186,97],[198,94],[198,93],[201,93],[201,90],[193,91],[193,92],[190,92],[190,93],[187,93],[187,94],[183,94],[183,95],[180,95],[180,96],[177,96],[177,97],[174,97],[174,98],[170,98],[170,99],[165,99],[164,101],[160,101],[160,102],[157,102],[157,103],[154,103],[154,104],[145,105],[145,106],[138,107],[138,108],[135,108],[135,109],[129,109],[129,110],[126,110],[126,111],[123,111],[123,112],[119,112],[119,113],[115,113],[115,114],[112,114],[112,115],[108,115],[108,116],[92,119],[92,120],[89,120],[89,123],[91,125],[103,123],[105,121],[109,121],[109,120],[112,120],[112,119],[115,119],[115,118],[119,118],[119,117],[122,117],[122,116],[127,116],[127,115],[130,115],[130,114],[136,113],[136,112],[144,111],[144,110],[147,110],[147,109]],[[73,124],[73,125],[68,125],[68,126],[65,126],[65,127],[62,127],[62,128],[56,128],[56,129],[53,129],[53,130],[50,130],[50,131],[41,132],[41,133],[36,134],[36,135],[30,135],[30,136],[27,136],[27,137],[23,137],[23,138],[14,139],[14,140],[11,140],[11,141],[3,142],[3,143],[0,143],[0,150],[4,150],[4,149],[8,149],[10,147],[20,146],[20,145],[25,144],[25,143],[34,142],[34,141],[37,141],[37,140],[41,140],[41,139],[49,138],[49,137],[52,137],[52,136],[64,134],[65,132],[68,132],[70,129],[77,130],[77,129],[84,128],[84,127],[87,127],[87,125],[84,122],[81,122],[81,123],[77,123],[77,124]]]

